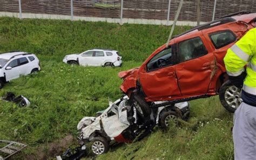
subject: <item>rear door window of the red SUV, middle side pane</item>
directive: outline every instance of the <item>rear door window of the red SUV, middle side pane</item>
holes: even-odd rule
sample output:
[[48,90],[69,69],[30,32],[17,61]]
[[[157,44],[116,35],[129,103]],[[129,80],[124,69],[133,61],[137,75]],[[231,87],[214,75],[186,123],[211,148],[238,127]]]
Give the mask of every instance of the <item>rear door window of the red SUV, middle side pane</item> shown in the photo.
[[200,37],[181,41],[178,44],[179,62],[201,57],[208,53]]

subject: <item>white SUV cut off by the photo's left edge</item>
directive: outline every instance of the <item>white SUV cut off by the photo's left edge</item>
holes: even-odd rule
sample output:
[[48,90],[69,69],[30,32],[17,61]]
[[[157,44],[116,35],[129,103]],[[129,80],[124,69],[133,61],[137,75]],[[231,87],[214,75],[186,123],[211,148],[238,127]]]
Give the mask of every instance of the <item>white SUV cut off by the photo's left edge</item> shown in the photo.
[[0,89],[4,83],[19,78],[20,75],[40,71],[39,60],[35,54],[12,51],[0,54]]

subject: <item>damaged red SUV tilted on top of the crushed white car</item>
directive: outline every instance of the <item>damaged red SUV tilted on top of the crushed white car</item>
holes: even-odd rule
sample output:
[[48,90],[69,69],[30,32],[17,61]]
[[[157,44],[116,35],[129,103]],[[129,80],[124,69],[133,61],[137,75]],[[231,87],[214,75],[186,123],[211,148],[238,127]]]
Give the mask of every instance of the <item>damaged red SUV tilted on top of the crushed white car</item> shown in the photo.
[[120,88],[134,95],[144,115],[151,113],[150,102],[170,104],[217,94],[223,106],[234,112],[241,101],[240,89],[227,81],[223,58],[255,22],[256,13],[238,12],[179,34],[139,68],[120,72],[124,80]]

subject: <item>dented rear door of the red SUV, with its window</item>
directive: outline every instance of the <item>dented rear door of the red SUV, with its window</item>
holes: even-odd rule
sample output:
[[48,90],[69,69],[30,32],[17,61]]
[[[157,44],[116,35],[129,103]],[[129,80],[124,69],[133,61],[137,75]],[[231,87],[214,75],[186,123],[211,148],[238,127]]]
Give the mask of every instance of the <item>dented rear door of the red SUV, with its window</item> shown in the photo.
[[205,95],[215,76],[212,48],[205,44],[204,36],[198,33],[188,34],[182,41],[177,41],[176,73],[183,98]]

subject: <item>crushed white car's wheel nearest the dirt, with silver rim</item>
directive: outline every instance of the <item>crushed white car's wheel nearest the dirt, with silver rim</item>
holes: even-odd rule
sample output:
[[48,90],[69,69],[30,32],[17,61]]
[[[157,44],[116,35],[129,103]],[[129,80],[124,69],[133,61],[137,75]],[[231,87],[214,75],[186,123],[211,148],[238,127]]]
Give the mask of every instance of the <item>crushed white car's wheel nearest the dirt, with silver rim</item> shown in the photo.
[[95,137],[92,140],[91,150],[95,156],[104,154],[109,151],[109,142],[107,142],[106,138]]

